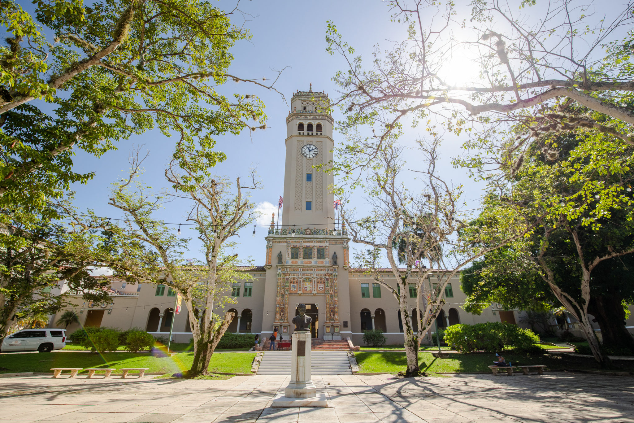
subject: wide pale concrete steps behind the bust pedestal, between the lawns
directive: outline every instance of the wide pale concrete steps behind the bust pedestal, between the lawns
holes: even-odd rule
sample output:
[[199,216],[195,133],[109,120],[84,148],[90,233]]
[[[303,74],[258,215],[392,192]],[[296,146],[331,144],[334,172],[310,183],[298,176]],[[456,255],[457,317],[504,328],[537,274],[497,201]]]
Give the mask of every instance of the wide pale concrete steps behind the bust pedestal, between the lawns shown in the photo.
[[[291,351],[264,351],[257,374],[290,375],[291,355]],[[346,351],[311,351],[311,374],[352,374]]]

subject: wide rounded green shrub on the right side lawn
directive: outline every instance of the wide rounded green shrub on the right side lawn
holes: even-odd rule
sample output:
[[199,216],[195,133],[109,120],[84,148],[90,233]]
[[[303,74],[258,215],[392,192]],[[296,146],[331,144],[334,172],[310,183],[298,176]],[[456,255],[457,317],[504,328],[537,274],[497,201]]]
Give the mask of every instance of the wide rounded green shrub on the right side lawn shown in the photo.
[[453,325],[444,332],[444,341],[462,353],[482,350],[488,353],[512,347],[517,352],[533,351],[540,339],[530,329],[501,322]]

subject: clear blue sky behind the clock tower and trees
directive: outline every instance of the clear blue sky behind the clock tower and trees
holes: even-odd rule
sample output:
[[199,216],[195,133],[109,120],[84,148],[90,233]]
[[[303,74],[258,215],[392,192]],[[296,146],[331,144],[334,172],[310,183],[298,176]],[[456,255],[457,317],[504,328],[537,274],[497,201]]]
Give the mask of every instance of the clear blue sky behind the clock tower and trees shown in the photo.
[[[231,8],[235,2],[221,1],[224,9]],[[249,15],[247,27],[253,34],[250,41],[242,41],[232,53],[235,62],[231,72],[247,78],[271,77],[274,70],[289,67],[283,72],[276,88],[285,94],[287,101],[295,90],[307,90],[312,82],[315,91],[326,91],[333,98],[337,95],[332,77],[337,70],[344,70],[346,63],[339,56],[326,53],[325,31],[327,20],[332,20],[357,53],[370,60],[370,53],[378,43],[387,47],[389,40],[403,39],[404,25],[389,20],[389,8],[381,1],[242,1],[240,8]],[[242,20],[236,16],[236,22]],[[289,105],[279,94],[259,89],[249,84],[228,82],[224,93],[254,93],[265,101],[269,116],[268,129],[256,133],[243,133],[240,136],[219,138],[217,150],[225,152],[228,159],[213,169],[214,174],[226,175],[232,179],[247,176],[248,169],[257,165],[264,189],[254,193],[254,200],[266,211],[263,223],[270,221],[272,211],[276,211],[277,199],[283,194],[284,178],[284,140],[286,138],[285,117]],[[335,119],[337,116],[335,116]],[[408,133],[413,138],[422,129]],[[164,182],[164,169],[172,152],[173,138],[167,138],[159,131],[134,136],[119,143],[118,150],[108,152],[100,159],[77,153],[75,169],[79,172],[94,171],[95,178],[87,185],[75,185],[77,191],[75,204],[81,209],[93,209],[100,216],[120,217],[120,213],[107,205],[110,183],[126,176],[129,167],[127,158],[134,145],[144,145],[150,150],[145,161],[143,179],[158,192],[167,184]],[[335,134],[335,143],[340,142]],[[465,172],[453,169],[449,162],[453,155],[460,154],[460,145],[465,140],[449,137],[443,144],[443,164],[441,173],[454,183],[467,186],[467,204],[477,205],[481,186],[467,178]],[[359,209],[363,209],[363,198],[359,196]],[[266,202],[275,204],[269,207]],[[169,223],[184,223],[188,211],[187,204],[172,202],[157,217]],[[176,227],[174,227],[176,231]],[[188,232],[191,232],[188,234]],[[251,256],[256,264],[263,264],[265,254],[266,228],[257,228],[256,238],[251,237],[252,229],[244,231],[236,248],[240,257]],[[183,236],[195,237],[193,231],[183,229]],[[202,257],[200,246],[193,239],[190,251],[185,257]]]

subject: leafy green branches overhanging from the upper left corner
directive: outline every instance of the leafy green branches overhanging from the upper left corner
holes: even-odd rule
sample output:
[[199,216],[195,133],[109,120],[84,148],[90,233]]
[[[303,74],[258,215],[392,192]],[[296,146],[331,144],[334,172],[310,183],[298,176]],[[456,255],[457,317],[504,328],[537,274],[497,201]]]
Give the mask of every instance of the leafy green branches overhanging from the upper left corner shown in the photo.
[[158,127],[213,166],[224,160],[214,136],[266,127],[257,96],[217,90],[229,80],[274,89],[275,81],[228,72],[230,49],[250,38],[231,22],[237,9],[201,0],[34,3],[34,16],[15,1],[0,4],[11,33],[0,47],[1,206],[45,209],[46,198],[85,183],[91,172],[70,172],[77,148],[99,157]]

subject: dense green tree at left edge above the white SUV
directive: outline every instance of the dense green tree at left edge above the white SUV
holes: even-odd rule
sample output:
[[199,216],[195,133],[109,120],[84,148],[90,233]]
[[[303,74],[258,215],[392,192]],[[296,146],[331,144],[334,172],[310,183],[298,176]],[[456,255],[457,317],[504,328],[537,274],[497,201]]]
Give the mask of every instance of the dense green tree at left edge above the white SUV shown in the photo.
[[[60,213],[57,208],[41,215],[20,209],[0,214],[0,342],[16,319],[54,314],[70,304],[70,293],[81,293],[84,301],[110,301],[103,290],[108,282],[88,270],[111,257],[104,238],[48,217]],[[70,290],[51,294],[62,281]]]

